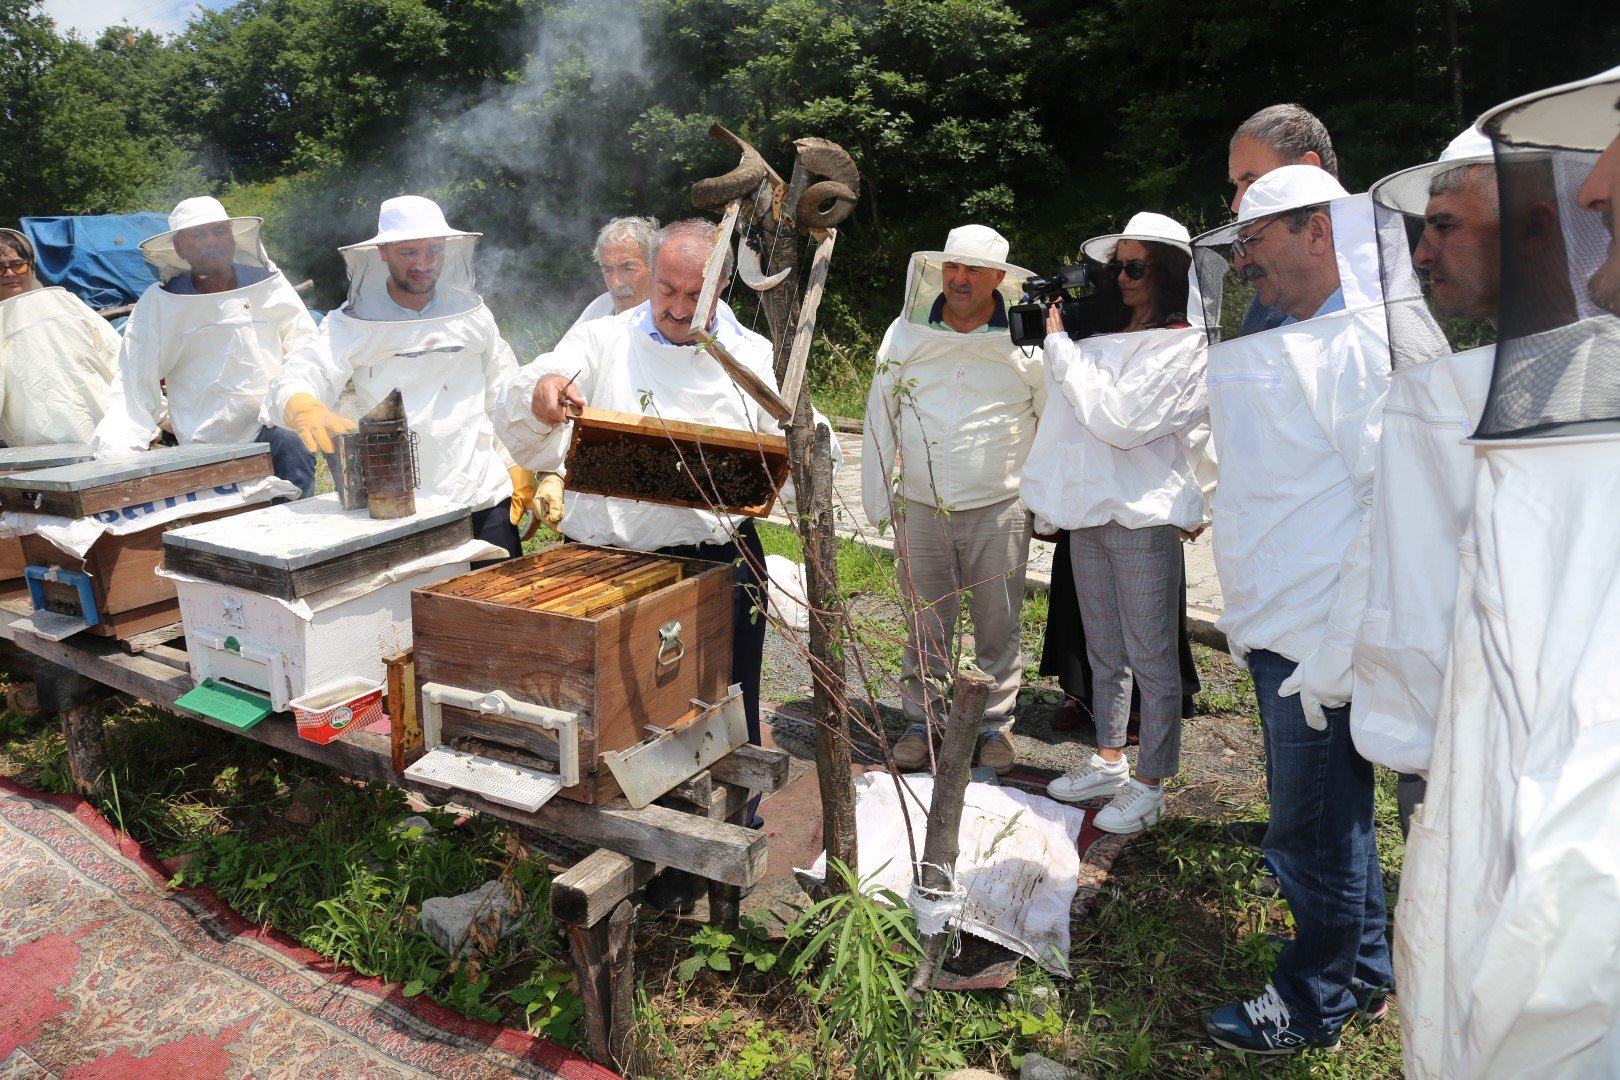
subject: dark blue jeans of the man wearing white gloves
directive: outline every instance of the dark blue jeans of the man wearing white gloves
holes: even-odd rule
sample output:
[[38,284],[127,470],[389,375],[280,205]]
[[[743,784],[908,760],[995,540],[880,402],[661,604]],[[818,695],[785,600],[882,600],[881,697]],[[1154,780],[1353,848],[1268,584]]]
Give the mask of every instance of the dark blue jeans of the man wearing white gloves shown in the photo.
[[1383,874],[1372,832],[1372,764],[1349,738],[1349,706],[1327,711],[1327,730],[1306,725],[1299,698],[1278,698],[1294,661],[1249,654],[1265,737],[1272,824],[1260,850],[1283,886],[1294,939],[1272,984],[1307,1028],[1335,1031],[1395,983],[1385,939]]

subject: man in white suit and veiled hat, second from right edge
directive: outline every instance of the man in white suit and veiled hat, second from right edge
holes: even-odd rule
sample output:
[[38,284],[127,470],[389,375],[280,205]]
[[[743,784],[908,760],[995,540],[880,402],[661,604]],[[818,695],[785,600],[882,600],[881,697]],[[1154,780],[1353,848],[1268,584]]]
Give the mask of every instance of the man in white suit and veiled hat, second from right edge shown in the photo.
[[[1385,176],[1369,194],[1393,371],[1349,730],[1361,756],[1401,774],[1405,829],[1422,801],[1452,651],[1458,544],[1474,505],[1474,452],[1463,437],[1479,423],[1495,355],[1502,269],[1490,139],[1469,128],[1439,160]],[[1486,343],[1453,353],[1452,340]]]

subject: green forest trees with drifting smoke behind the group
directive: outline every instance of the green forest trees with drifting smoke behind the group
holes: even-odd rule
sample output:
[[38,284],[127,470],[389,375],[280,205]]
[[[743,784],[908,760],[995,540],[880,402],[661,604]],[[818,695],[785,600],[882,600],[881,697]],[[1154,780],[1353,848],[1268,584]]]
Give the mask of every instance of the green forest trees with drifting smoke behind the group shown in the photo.
[[484,233],[481,291],[526,359],[601,290],[608,217],[690,215],[735,164],[711,121],[784,175],[818,134],[863,186],[812,372],[859,413],[906,254],[951,225],[1050,272],[1136,210],[1226,220],[1226,142],[1259,107],[1322,117],[1359,191],[1617,62],[1614,0],[241,0],[96,40],[0,0],[0,223],[217,194],[324,308],[377,202],[429,194]]

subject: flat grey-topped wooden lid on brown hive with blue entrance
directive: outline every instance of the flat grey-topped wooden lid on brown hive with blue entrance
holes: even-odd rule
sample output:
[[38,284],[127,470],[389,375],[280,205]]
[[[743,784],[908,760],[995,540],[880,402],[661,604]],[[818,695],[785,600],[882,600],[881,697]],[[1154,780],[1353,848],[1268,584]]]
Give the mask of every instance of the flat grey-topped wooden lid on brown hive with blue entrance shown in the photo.
[[164,447],[128,458],[0,476],[0,507],[87,518],[104,510],[122,510],[269,474],[271,450],[259,442]]

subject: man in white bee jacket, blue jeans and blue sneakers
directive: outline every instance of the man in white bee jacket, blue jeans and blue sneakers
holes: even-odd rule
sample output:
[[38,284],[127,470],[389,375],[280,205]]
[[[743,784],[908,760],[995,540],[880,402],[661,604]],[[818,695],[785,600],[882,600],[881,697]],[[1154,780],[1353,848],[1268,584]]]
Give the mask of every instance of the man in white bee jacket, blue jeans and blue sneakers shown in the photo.
[[1254,675],[1272,819],[1262,850],[1294,920],[1270,983],[1204,1014],[1233,1049],[1338,1044],[1358,1010],[1382,1015],[1392,972],[1372,831],[1372,764],[1345,704],[1366,602],[1379,415],[1388,387],[1372,202],[1314,165],[1244,193],[1238,222],[1194,241],[1205,325],[1218,338],[1230,275],[1286,313],[1212,340],[1210,421],[1220,486],[1213,551],[1220,627]]

